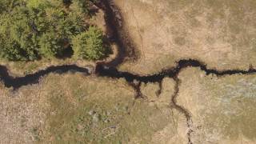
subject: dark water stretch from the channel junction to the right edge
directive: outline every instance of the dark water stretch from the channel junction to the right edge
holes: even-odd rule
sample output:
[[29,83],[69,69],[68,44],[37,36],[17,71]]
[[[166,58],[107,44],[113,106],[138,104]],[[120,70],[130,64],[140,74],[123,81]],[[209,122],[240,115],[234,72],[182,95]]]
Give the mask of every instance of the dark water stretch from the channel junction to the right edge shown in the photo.
[[170,68],[168,70],[162,70],[162,72],[158,74],[152,74],[147,76],[140,76],[136,74],[131,74],[128,72],[122,72],[118,71],[114,67],[106,67],[102,65],[98,65],[96,67],[96,74],[99,76],[105,76],[110,78],[125,78],[127,82],[133,82],[134,80],[137,80],[138,82],[161,82],[163,78],[169,77],[169,78],[176,78],[179,74],[179,72],[186,68],[186,67],[198,67],[202,71],[205,71],[206,74],[215,74],[217,76],[223,76],[223,75],[232,75],[232,74],[254,74],[256,73],[256,70],[250,69],[250,70],[214,70],[214,69],[207,69],[206,65],[202,62],[199,62],[194,59],[183,59],[177,62],[177,66],[174,68]]

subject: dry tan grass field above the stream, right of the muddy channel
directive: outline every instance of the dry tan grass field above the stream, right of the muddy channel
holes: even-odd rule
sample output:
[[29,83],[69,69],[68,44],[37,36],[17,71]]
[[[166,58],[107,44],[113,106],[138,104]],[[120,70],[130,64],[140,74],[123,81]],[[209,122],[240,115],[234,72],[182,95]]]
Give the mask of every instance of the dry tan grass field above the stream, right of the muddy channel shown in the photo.
[[218,70],[256,63],[254,0],[114,0],[141,56],[122,70],[157,73],[182,58]]

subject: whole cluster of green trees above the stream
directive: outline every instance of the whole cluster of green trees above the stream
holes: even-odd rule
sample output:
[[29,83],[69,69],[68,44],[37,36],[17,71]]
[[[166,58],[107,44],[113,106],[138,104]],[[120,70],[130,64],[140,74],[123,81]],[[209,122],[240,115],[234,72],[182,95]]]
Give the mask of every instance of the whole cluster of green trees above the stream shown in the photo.
[[67,46],[75,58],[104,57],[102,31],[86,25],[89,6],[86,0],[0,0],[0,58],[62,57]]

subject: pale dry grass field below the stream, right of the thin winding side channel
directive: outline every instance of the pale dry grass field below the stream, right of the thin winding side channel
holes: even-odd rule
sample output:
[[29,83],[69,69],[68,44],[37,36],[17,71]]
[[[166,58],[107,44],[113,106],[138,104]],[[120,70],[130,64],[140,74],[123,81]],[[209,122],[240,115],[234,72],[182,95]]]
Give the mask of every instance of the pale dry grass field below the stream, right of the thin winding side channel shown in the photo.
[[193,143],[255,143],[256,75],[182,71],[178,104],[190,111]]

